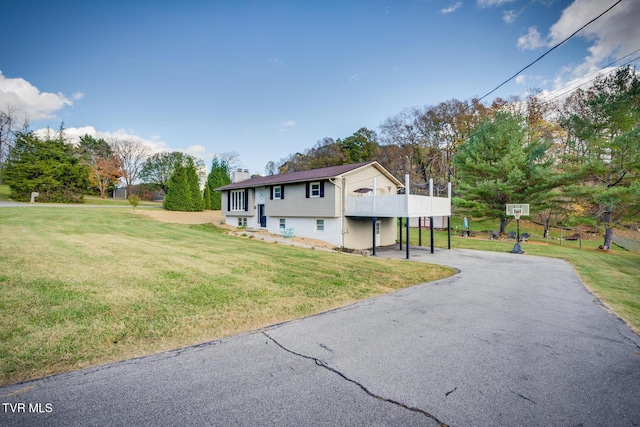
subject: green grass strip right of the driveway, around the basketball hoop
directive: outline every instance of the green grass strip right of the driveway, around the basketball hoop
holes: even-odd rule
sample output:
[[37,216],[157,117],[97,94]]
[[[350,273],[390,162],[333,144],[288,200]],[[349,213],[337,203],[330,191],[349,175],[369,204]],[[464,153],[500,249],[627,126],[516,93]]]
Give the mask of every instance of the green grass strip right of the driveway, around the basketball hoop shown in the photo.
[[[610,251],[598,250],[603,238],[583,240],[582,248],[578,241],[560,240],[560,230],[552,230],[549,239],[542,237],[542,227],[529,221],[520,221],[520,232],[531,234],[529,242],[522,243],[522,249],[528,255],[560,258],[568,261],[587,288],[614,313],[640,334],[640,254],[627,252],[614,245]],[[452,228],[462,229],[462,220],[452,220]],[[489,240],[488,230],[498,230],[496,221],[485,220],[471,223],[475,238],[460,237],[451,232],[451,247],[496,252],[510,252],[514,240]],[[507,231],[516,231],[515,221],[509,224]],[[563,231],[563,236],[573,232]],[[411,230],[411,243],[418,244],[418,230]],[[422,232],[422,245],[429,246],[429,231]],[[447,247],[447,233],[434,233],[434,246]],[[515,256],[515,255],[514,255]]]

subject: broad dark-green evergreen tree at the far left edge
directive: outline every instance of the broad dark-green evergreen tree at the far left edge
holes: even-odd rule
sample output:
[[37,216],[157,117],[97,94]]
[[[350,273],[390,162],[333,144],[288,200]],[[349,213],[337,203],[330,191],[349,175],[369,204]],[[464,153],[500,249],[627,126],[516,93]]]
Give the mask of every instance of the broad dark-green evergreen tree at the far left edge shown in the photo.
[[32,133],[19,134],[2,170],[11,197],[39,202],[78,203],[89,185],[89,167],[73,146],[62,139],[41,140]]

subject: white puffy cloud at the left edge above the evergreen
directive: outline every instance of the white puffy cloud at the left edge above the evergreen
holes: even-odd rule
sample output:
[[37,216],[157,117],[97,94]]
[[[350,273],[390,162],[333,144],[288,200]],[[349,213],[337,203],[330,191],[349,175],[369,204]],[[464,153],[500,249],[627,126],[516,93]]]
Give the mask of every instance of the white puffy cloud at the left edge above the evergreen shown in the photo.
[[73,102],[62,93],[40,92],[22,78],[8,78],[0,71],[0,106],[11,106],[29,120],[48,119]]

